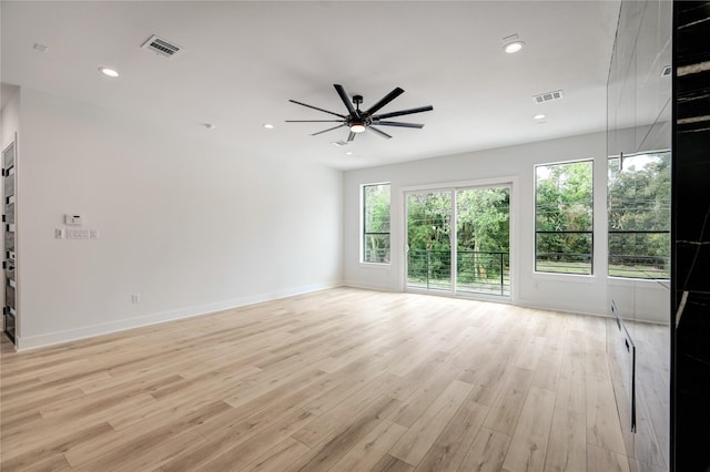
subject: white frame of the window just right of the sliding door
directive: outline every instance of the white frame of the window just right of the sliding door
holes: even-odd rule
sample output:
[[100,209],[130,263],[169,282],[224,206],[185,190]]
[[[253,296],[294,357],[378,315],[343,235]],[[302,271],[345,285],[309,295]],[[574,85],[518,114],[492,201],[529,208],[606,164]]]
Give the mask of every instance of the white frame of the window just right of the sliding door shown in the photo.
[[[538,167],[551,167],[557,165],[567,165],[567,164],[577,164],[577,163],[589,163],[590,164],[590,177],[591,177],[591,198],[589,202],[589,212],[591,215],[589,222],[588,230],[539,230],[538,229]],[[595,275],[595,158],[586,157],[579,160],[569,160],[569,161],[557,161],[550,163],[540,163],[535,164],[532,168],[532,186],[534,186],[534,198],[532,198],[532,226],[534,226],[534,243],[532,243],[532,271],[535,274],[545,274],[545,275],[555,275],[555,276],[569,276],[569,277],[594,277]],[[566,273],[566,271],[555,271],[555,270],[544,270],[538,269],[538,235],[540,234],[581,234],[589,235],[589,271],[588,273]],[[565,253],[561,253],[565,254]],[[571,254],[571,253],[570,253]]]

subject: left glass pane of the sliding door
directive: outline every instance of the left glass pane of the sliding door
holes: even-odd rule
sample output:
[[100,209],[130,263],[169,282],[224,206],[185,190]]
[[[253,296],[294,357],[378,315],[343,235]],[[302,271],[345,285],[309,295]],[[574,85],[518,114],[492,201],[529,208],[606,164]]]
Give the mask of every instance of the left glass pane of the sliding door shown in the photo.
[[452,288],[452,194],[407,196],[407,283],[409,287]]

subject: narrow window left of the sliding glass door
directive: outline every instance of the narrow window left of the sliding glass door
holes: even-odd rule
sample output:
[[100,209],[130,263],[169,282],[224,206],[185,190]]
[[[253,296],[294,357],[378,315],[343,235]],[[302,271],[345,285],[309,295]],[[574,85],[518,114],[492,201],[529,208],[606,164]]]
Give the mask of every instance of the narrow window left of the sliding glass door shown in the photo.
[[389,264],[389,184],[363,185],[363,263]]

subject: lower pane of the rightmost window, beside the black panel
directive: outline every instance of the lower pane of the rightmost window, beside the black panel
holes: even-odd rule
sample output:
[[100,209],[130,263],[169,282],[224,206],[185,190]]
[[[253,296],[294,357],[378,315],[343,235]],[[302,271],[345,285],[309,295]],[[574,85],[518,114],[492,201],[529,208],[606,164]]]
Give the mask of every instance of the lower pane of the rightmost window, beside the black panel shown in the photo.
[[669,233],[609,234],[609,275],[670,278]]

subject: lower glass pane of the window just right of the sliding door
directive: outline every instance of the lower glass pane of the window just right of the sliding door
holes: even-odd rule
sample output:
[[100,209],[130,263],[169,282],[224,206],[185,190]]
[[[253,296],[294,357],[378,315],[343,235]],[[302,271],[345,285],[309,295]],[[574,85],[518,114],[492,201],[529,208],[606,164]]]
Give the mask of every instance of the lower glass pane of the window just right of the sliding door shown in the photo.
[[591,274],[590,233],[538,233],[535,270],[560,274]]

